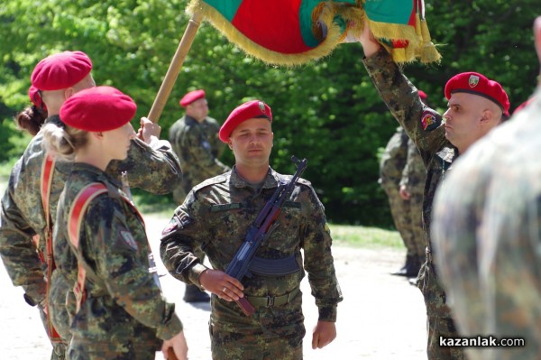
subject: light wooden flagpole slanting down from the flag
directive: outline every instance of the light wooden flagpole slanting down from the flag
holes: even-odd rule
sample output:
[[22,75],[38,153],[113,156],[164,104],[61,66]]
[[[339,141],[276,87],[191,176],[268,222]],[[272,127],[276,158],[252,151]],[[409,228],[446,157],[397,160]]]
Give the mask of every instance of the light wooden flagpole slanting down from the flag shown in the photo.
[[154,99],[151,111],[147,116],[152,123],[158,123],[158,120],[160,119],[161,112],[163,111],[163,108],[167,103],[167,99],[170,96],[171,90],[175,85],[175,81],[177,81],[177,77],[179,76],[180,68],[182,68],[182,64],[186,59],[189,48],[191,47],[192,42],[194,42],[194,38],[196,37],[197,29],[199,28],[199,23],[201,23],[202,18],[203,16],[200,13],[195,12],[188,21],[188,26],[186,27],[184,35],[182,35],[182,39],[180,39],[179,47],[177,48],[177,51],[175,51],[175,55],[173,56],[173,60],[171,60],[170,67],[165,74],[165,78],[163,78],[163,82],[161,83],[158,95]]

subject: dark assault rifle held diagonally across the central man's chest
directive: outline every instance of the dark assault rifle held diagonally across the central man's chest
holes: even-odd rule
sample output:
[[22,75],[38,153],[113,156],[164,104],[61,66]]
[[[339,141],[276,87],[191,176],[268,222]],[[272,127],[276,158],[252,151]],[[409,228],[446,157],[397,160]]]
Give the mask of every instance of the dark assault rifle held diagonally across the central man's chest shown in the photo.
[[[229,266],[227,266],[225,273],[233,276],[239,282],[241,282],[243,277],[250,271],[250,266],[253,263],[255,253],[262,242],[271,235],[272,231],[278,225],[275,224],[275,221],[280,216],[284,201],[291,196],[291,192],[295,189],[298,178],[300,178],[302,172],[307,168],[306,159],[300,161],[295,156],[291,156],[291,161],[295,162],[297,171],[289,182],[280,181],[278,189],[274,191],[272,197],[267,201],[255,221],[248,228],[243,245],[239,247],[236,254],[234,254],[233,260],[229,263]],[[246,316],[252,316],[255,312],[252,304],[246,298],[241,298],[237,300],[236,303],[243,309],[243,313]]]

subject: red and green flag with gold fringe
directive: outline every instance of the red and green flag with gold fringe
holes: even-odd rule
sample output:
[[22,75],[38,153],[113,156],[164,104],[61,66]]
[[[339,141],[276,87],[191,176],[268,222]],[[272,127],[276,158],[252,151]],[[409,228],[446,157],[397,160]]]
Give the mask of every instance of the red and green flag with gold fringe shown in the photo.
[[192,0],[188,5],[188,13],[202,14],[249,55],[279,65],[328,55],[362,31],[364,17],[394,60],[439,60],[423,10],[423,0]]

